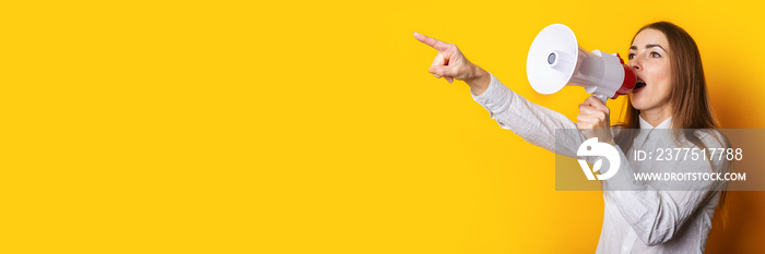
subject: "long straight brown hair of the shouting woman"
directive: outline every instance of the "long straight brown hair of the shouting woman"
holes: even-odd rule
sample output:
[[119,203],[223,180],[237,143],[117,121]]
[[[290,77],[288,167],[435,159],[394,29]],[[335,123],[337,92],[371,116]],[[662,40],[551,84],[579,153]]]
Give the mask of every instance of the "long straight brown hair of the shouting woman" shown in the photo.
[[[670,112],[672,116],[672,129],[675,129],[675,138],[685,137],[698,147],[706,147],[698,136],[699,133],[693,131],[698,129],[715,130],[719,128],[719,123],[713,113],[709,105],[707,93],[707,84],[704,77],[704,68],[702,66],[702,56],[698,51],[696,41],[680,26],[670,22],[656,22],[643,26],[635,36],[632,43],[635,41],[637,34],[645,29],[656,29],[661,32],[669,43],[669,58],[672,73],[672,88],[670,92]],[[631,43],[631,45],[632,45]],[[619,129],[639,129],[640,110],[635,109],[632,105],[632,97],[627,97],[626,113],[623,113],[624,120],[621,123],[614,124]],[[681,131],[683,129],[692,129]],[[614,142],[620,144],[623,152],[626,154],[632,147],[637,132],[622,131],[616,134]],[[730,147],[729,142],[725,136],[722,144]],[[710,161],[711,165],[711,161]],[[714,168],[713,168],[714,170]],[[720,193],[720,202],[717,206],[718,211],[722,211],[720,207],[725,202],[726,192]],[[725,217],[725,213],[719,213]],[[722,218],[725,220],[725,218]]]

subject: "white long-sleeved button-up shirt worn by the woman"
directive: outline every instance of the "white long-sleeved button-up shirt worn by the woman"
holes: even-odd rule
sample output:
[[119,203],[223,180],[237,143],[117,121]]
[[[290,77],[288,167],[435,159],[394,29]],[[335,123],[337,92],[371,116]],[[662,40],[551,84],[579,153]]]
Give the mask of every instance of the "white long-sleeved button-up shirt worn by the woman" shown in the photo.
[[[554,136],[555,129],[577,129],[574,122],[558,112],[531,104],[503,85],[493,74],[487,89],[480,96],[472,94],[472,97],[501,128],[511,130],[527,142],[548,150],[576,156],[576,147],[557,147],[558,150],[555,150]],[[650,130],[669,129],[670,125],[671,118],[657,126],[640,118],[640,135],[635,138],[632,148],[644,148],[649,141],[663,142],[666,138],[651,137]],[[644,135],[644,131],[648,134]],[[702,140],[705,144],[709,142],[706,137]],[[711,171],[709,162],[637,164],[619,150],[623,161],[620,172],[629,170],[629,173],[619,173],[603,182],[631,184],[629,190],[639,191],[603,192],[603,226],[596,253],[704,253],[720,192],[707,192],[705,190],[709,186],[706,185],[698,186],[698,191],[657,191],[655,186],[619,176],[644,171],[698,172],[705,167]],[[714,164],[715,168],[723,167],[720,161]]]

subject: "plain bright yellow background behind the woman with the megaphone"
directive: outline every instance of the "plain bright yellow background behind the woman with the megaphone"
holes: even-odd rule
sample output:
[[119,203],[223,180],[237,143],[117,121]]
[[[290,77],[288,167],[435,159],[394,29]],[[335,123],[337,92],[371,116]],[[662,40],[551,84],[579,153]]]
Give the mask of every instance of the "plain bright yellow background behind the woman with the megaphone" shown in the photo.
[[[581,88],[526,80],[537,33],[626,56],[671,21],[722,126],[763,128],[751,2],[7,1],[0,252],[592,253],[601,193],[555,192],[553,155],[429,75],[412,32],[574,119]],[[708,253],[762,251],[764,204],[730,193]]]

